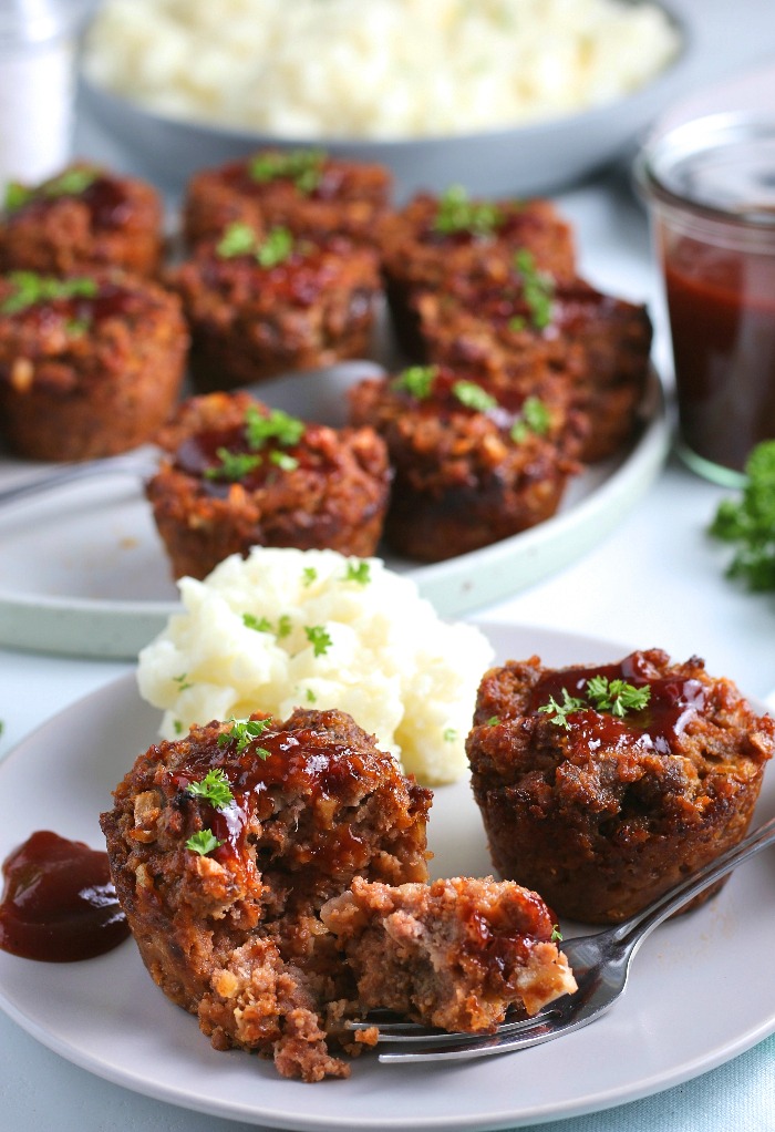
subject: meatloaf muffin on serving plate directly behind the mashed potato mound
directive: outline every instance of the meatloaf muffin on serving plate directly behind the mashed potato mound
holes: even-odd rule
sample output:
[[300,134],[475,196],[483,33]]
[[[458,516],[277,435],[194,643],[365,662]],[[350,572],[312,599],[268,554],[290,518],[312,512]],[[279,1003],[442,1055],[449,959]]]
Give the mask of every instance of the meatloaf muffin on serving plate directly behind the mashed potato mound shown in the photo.
[[304,423],[238,391],[184,402],[158,441],[170,456],[146,494],[175,577],[252,546],[374,552],[390,469],[372,429]]

